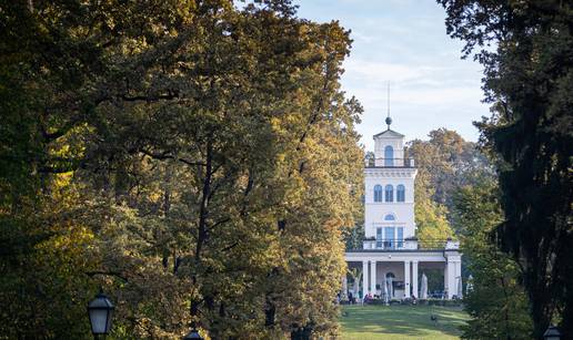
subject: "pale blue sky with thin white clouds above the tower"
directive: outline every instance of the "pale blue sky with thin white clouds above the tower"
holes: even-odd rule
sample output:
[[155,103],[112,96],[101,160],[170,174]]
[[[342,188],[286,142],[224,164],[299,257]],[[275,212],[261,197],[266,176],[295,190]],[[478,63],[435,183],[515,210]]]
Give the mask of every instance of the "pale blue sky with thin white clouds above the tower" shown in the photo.
[[472,125],[489,116],[481,101],[482,68],[461,60],[463,43],[445,33],[445,12],[434,0],[295,0],[299,17],[318,22],[339,20],[353,39],[342,87],[364,106],[358,126],[361,142],[386,128],[390,83],[391,128],[428,140],[439,127],[476,141]]

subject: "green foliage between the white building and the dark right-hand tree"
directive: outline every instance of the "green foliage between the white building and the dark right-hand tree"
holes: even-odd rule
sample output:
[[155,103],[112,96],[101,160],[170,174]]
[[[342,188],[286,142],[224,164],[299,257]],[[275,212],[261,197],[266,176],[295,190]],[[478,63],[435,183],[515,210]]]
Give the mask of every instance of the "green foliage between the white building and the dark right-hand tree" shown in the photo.
[[466,230],[462,251],[473,286],[464,297],[471,319],[462,327],[463,339],[531,339],[533,331],[519,266],[490,237],[503,220],[499,197],[490,178],[460,189],[454,197],[456,224]]

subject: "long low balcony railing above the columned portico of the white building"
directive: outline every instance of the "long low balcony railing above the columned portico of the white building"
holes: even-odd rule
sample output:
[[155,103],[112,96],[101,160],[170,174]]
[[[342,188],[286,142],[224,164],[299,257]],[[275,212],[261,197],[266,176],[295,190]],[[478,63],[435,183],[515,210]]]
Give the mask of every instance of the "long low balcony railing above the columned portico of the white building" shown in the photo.
[[364,239],[364,250],[459,250],[458,240]]

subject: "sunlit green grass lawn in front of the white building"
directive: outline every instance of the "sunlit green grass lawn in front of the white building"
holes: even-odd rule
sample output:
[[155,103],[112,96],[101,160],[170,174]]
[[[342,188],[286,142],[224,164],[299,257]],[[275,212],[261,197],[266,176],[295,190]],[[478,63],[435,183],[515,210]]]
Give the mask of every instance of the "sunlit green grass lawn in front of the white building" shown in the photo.
[[[430,319],[438,316],[438,322]],[[343,306],[342,339],[459,339],[468,315],[459,307]]]

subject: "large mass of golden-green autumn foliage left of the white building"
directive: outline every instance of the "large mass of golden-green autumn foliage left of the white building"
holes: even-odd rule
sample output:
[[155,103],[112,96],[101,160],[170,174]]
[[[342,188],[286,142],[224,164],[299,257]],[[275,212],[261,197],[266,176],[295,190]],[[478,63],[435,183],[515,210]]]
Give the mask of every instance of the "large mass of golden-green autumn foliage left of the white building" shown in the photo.
[[98,285],[117,339],[336,333],[362,189],[348,31],[279,0],[0,16],[2,334],[89,337]]

